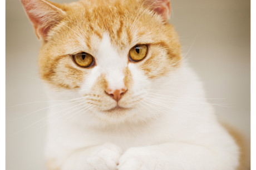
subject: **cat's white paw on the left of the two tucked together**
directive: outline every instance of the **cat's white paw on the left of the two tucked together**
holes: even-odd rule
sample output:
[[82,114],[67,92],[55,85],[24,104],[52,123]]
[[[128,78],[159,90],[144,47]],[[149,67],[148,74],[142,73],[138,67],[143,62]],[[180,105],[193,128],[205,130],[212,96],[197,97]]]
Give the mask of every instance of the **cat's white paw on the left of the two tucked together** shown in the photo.
[[87,167],[85,169],[116,170],[121,154],[120,147],[106,143],[87,158]]

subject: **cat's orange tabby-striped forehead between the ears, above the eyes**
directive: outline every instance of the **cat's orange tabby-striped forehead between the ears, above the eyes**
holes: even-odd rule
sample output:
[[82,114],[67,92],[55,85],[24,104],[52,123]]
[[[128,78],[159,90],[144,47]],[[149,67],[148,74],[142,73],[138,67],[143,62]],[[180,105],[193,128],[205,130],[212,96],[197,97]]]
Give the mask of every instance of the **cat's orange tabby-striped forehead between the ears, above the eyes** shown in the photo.
[[150,15],[147,13],[149,12],[131,4],[111,3],[96,6],[81,3],[68,9],[66,24],[75,29],[71,33],[85,39],[88,48],[97,48],[95,46],[107,33],[111,43],[122,51],[137,43],[152,41],[152,32],[149,32],[152,30],[149,28],[151,25],[147,23],[150,22]]

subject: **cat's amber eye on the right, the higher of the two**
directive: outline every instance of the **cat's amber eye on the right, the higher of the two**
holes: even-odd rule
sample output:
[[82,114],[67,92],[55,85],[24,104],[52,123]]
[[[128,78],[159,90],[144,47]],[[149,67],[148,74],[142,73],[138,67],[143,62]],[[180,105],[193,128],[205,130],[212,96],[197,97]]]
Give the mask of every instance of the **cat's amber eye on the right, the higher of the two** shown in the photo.
[[136,45],[129,51],[129,60],[133,62],[141,61],[146,57],[147,46],[145,44]]

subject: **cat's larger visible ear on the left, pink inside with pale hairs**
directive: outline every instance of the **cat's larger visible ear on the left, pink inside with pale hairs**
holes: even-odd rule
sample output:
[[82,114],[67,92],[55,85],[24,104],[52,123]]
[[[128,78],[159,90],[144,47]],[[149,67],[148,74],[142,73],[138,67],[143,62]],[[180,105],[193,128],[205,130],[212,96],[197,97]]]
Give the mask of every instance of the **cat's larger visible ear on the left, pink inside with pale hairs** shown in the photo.
[[45,40],[48,31],[65,16],[60,5],[46,0],[21,0],[38,39]]

